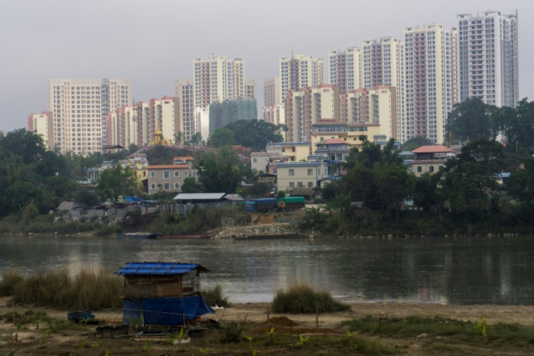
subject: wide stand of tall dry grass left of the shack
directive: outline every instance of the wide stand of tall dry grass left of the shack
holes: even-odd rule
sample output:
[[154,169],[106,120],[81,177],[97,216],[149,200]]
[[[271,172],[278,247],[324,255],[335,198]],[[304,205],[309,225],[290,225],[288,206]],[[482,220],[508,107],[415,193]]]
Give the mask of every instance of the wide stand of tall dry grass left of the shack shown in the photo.
[[122,307],[122,277],[107,270],[50,270],[27,275],[15,286],[13,301],[58,309]]

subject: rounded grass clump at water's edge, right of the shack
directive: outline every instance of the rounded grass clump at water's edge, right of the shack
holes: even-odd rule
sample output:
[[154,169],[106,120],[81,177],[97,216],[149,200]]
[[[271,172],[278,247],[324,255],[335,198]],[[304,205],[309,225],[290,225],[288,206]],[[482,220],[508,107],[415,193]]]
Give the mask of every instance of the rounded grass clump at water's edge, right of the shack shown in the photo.
[[305,283],[294,283],[287,291],[284,289],[277,291],[271,302],[271,308],[277,313],[307,314],[350,310],[348,305],[334,300],[327,291],[314,291]]

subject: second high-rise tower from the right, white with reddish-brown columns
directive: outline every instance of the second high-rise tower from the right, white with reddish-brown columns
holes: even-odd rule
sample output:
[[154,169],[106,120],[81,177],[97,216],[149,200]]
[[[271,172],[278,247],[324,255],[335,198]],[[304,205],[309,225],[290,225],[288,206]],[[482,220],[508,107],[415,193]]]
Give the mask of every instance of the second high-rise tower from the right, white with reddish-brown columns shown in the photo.
[[443,143],[447,113],[457,97],[455,28],[407,27],[404,35],[405,100],[402,140],[414,136]]

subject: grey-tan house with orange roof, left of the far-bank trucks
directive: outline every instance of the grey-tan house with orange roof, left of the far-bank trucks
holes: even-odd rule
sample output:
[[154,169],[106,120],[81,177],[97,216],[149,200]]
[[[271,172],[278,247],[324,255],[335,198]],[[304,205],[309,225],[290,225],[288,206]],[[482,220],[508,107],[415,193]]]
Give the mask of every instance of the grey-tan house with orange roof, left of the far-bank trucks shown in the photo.
[[197,177],[193,168],[193,157],[176,157],[174,164],[148,165],[148,193],[160,191],[181,192],[181,186],[188,177]]

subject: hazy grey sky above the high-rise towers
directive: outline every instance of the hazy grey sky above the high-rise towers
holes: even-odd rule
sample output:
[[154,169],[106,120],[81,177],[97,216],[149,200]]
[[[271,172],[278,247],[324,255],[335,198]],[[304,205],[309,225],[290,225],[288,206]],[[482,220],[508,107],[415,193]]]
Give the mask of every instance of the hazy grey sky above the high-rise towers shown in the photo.
[[47,110],[53,78],[131,79],[133,99],[174,95],[193,77],[193,58],[244,58],[263,104],[264,79],[278,59],[363,40],[401,37],[404,27],[457,26],[456,15],[519,10],[519,97],[534,100],[533,0],[382,1],[48,1],[0,0],[0,131],[26,127]]

